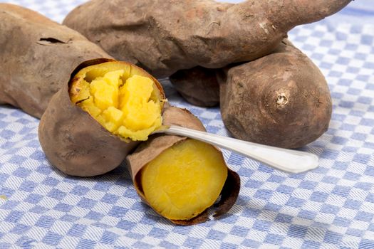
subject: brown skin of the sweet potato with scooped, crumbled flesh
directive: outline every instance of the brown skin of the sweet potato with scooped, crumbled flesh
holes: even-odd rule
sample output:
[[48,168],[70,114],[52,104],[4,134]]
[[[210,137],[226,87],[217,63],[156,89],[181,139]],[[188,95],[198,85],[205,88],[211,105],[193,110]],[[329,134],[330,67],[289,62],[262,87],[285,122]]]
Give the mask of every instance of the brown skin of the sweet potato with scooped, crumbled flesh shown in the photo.
[[[48,161],[71,176],[96,176],[115,169],[139,142],[124,142],[88,112],[71,102],[68,87],[73,83],[78,70],[89,65],[113,61],[110,59],[88,60],[73,71],[71,81],[54,95],[41,117],[38,137]],[[122,63],[122,62],[118,62]],[[135,65],[133,65],[135,67]],[[152,78],[140,68],[143,75]],[[155,80],[155,78],[152,78]],[[162,91],[160,83],[155,81]],[[163,95],[163,91],[161,92]]]

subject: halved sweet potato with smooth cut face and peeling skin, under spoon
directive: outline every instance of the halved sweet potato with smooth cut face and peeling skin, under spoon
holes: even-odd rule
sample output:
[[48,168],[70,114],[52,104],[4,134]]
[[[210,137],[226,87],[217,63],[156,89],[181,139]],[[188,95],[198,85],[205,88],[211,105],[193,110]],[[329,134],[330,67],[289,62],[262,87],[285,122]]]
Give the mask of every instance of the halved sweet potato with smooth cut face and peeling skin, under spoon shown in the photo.
[[[204,131],[187,110],[165,107],[164,124]],[[238,174],[227,168],[222,152],[186,137],[154,135],[127,157],[137,193],[173,223],[207,221],[207,208],[221,196],[215,217],[227,213],[239,194]]]

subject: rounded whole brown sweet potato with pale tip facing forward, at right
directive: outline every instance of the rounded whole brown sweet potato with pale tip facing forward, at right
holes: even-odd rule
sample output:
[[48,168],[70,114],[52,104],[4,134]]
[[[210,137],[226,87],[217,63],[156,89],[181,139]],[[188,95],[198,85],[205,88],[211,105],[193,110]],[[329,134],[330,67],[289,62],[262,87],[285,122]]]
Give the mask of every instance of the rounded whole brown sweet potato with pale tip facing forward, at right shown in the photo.
[[326,80],[286,39],[274,53],[229,68],[219,83],[222,120],[238,139],[298,148],[328,129]]

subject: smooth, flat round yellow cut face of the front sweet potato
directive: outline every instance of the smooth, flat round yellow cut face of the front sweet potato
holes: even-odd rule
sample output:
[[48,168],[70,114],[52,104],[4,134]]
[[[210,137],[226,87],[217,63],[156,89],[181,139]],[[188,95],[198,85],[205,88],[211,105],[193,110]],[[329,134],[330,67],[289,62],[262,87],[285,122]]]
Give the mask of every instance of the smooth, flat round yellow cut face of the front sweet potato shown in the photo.
[[150,206],[171,220],[189,220],[212,206],[226,179],[222,154],[192,139],[166,149],[140,176]]

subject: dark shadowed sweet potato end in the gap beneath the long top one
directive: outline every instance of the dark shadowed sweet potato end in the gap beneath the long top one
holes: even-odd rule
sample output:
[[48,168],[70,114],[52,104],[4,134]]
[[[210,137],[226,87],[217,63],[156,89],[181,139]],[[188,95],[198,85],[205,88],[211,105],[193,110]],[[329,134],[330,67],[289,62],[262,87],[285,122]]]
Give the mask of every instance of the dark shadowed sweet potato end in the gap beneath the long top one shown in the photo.
[[219,83],[215,69],[195,67],[179,70],[169,79],[175,90],[192,105],[214,107],[219,104]]

